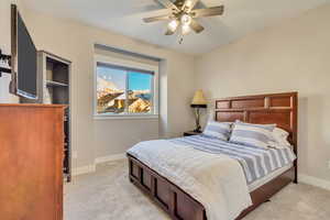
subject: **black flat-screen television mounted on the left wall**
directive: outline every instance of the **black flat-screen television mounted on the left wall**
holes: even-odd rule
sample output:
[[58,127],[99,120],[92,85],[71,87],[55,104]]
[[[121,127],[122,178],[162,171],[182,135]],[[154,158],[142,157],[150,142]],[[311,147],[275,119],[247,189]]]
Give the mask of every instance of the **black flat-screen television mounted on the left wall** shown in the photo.
[[36,99],[37,51],[14,4],[11,6],[11,55],[10,91],[28,99]]

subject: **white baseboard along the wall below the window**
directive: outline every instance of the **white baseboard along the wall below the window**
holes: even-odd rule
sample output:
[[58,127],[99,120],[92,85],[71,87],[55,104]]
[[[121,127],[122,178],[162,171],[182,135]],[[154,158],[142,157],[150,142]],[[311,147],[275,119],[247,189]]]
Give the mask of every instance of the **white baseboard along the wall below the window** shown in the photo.
[[95,160],[94,164],[90,164],[90,165],[87,165],[87,166],[80,166],[80,167],[77,167],[77,168],[73,168],[73,176],[94,173],[94,172],[96,172],[96,165],[97,164],[124,160],[125,157],[127,157],[125,153],[112,154],[112,155],[109,155],[109,156],[97,157]]

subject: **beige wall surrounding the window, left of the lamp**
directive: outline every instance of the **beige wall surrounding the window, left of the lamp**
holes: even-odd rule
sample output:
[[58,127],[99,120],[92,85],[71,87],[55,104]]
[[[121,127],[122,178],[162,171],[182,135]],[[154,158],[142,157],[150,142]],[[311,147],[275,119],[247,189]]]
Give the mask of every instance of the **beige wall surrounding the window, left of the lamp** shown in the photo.
[[[26,10],[25,23],[38,50],[48,51],[73,62],[72,142],[74,151],[78,154],[78,158],[73,162],[75,167],[90,165],[96,157],[124,153],[139,141],[157,139],[160,129],[162,134],[169,136],[179,135],[194,127],[189,108],[195,89],[193,56],[30,10]],[[163,59],[161,65],[162,123],[155,119],[94,119],[95,43]]]

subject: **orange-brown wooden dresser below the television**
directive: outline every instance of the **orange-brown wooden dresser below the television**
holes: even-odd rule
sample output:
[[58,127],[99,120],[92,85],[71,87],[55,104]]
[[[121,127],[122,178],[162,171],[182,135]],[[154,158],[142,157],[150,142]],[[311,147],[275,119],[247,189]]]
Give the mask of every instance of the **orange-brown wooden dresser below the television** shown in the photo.
[[0,219],[63,220],[64,110],[0,105]]

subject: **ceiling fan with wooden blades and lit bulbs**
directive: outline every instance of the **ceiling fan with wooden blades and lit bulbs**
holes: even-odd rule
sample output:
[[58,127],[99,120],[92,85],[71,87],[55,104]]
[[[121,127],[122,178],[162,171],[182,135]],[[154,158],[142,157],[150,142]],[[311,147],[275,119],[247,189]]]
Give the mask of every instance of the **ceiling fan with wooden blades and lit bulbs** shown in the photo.
[[200,25],[195,19],[201,16],[215,16],[223,14],[224,7],[211,7],[207,9],[194,9],[199,0],[154,0],[166,9],[170,10],[169,14],[145,18],[145,23],[156,21],[169,21],[165,35],[174,34],[177,29],[182,28],[182,34],[186,35],[191,30],[196,33],[204,31],[204,26]]

